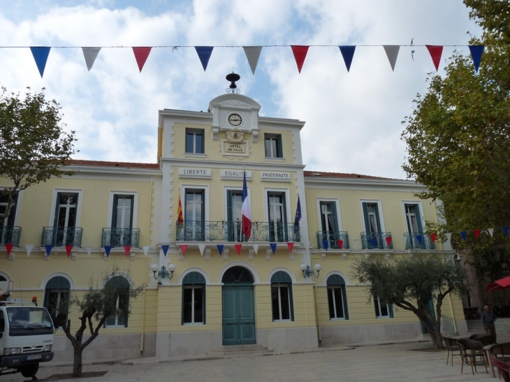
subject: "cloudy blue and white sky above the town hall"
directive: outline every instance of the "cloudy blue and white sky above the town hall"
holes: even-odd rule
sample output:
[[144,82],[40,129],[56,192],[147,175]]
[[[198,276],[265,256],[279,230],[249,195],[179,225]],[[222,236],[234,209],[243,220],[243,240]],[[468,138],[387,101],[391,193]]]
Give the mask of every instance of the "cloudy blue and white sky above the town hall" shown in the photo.
[[[402,121],[481,35],[468,13],[462,0],[0,0],[0,85],[44,87],[75,159],[156,163],[158,110],[205,112],[234,71],[259,115],[306,122],[305,170],[405,179]],[[301,73],[290,45],[310,46]],[[349,72],[338,45],[356,45]],[[401,45],[394,71],[383,45]],[[425,45],[444,45],[437,72]],[[31,46],[52,47],[43,78]],[[136,46],[153,47],[141,73]],[[263,46],[254,74],[242,46]],[[102,47],[90,71],[81,47]]]

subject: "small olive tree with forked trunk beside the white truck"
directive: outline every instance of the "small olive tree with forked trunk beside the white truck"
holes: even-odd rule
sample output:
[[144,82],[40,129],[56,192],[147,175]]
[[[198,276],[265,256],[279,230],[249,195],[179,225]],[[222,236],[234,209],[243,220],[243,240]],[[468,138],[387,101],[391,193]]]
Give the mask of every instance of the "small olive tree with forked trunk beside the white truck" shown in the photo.
[[[82,353],[99,335],[105,321],[108,318],[127,319],[131,313],[131,299],[138,297],[144,288],[143,285],[136,286],[133,283],[129,271],[120,272],[119,267],[114,266],[110,272],[101,274],[99,279],[93,276],[83,295],[71,294],[68,300],[61,302],[59,311],[77,307],[80,314],[80,327],[74,335],[71,334],[70,318],[55,325],[61,325],[73,345],[73,376],[80,376],[82,373]],[[84,340],[83,335],[87,328],[90,337]]]

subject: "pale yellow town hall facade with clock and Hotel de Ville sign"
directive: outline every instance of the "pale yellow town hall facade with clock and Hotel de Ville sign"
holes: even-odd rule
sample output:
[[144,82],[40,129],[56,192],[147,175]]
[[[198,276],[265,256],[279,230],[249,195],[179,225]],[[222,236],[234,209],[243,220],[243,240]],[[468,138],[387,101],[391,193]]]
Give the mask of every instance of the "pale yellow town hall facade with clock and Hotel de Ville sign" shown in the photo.
[[[127,321],[112,318],[101,329],[95,350],[84,354],[91,360],[199,355],[231,344],[282,350],[423,338],[408,311],[379,307],[377,318],[366,286],[350,274],[357,256],[453,253],[439,244],[416,247],[425,221],[437,221],[435,205],[414,196],[423,187],[305,171],[304,122],[258,117],[260,108],[226,94],[208,112],[160,110],[158,163],[73,161],[72,177],[20,193],[3,221],[3,233],[22,230],[9,255],[5,235],[0,242],[0,283],[14,281],[10,297],[36,296],[50,310],[61,291],[81,295],[92,275],[112,265],[145,285]],[[249,240],[240,219],[245,174]],[[318,277],[305,277],[301,267],[317,263]],[[172,266],[165,277],[162,267]],[[462,332],[460,300],[449,297],[443,311]],[[78,312],[69,318],[77,327]],[[72,359],[61,330],[54,350],[56,360]]]

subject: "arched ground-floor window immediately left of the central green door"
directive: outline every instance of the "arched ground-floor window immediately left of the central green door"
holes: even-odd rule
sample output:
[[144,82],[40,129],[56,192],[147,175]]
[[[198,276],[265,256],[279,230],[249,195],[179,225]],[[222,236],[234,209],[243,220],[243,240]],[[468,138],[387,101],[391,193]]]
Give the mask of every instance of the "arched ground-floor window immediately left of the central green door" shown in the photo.
[[182,280],[182,325],[205,323],[205,278],[190,272]]

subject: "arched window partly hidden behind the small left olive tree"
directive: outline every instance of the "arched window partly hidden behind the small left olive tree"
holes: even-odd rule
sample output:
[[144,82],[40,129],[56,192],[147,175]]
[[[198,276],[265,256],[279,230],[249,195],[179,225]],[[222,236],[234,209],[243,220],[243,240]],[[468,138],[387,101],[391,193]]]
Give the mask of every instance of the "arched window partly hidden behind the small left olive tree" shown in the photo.
[[114,276],[104,286],[105,295],[115,299],[115,314],[106,318],[105,328],[127,328],[129,314],[129,281],[123,276]]

